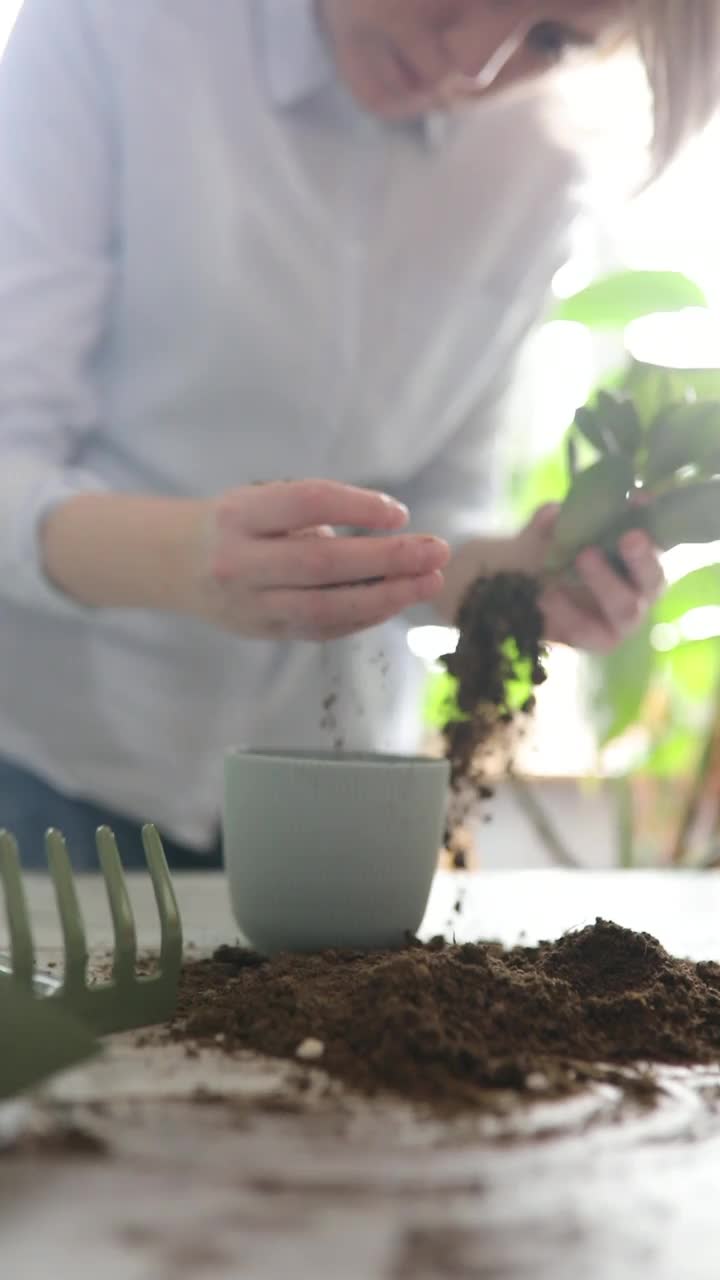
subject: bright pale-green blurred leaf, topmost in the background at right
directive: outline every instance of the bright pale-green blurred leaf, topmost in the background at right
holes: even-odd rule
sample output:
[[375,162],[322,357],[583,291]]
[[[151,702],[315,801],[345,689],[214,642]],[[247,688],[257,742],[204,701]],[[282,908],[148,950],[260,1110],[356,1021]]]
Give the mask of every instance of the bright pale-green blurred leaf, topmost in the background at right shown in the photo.
[[618,333],[633,320],[659,311],[706,306],[705,293],[687,275],[676,271],[620,271],[559,302],[551,319]]

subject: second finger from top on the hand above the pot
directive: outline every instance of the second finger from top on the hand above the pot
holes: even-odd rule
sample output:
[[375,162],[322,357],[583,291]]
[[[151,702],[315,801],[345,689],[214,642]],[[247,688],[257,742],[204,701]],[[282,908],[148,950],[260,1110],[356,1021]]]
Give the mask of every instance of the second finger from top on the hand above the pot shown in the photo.
[[443,570],[438,538],[302,538],[259,540],[241,550],[247,581],[259,590],[343,586],[368,579],[419,577]]

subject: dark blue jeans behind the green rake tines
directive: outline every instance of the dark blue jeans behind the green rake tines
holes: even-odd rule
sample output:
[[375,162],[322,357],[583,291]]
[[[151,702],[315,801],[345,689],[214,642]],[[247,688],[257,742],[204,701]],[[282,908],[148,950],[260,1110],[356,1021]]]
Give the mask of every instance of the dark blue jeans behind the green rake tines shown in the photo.
[[[64,796],[27,769],[0,759],[0,829],[15,836],[27,870],[45,870],[44,836],[49,827],[63,832],[76,870],[99,870],[95,832],[102,826],[114,831],[126,870],[145,869],[138,822]],[[208,854],[199,854],[160,835],[172,870],[217,870],[223,864],[219,837]]]

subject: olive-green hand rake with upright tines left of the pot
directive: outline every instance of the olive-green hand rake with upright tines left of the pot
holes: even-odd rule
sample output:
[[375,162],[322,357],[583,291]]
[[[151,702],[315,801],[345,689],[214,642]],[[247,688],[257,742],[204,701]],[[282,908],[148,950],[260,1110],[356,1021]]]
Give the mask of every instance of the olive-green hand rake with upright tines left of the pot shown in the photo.
[[[24,992],[51,1001],[58,1011],[96,1034],[108,1036],[172,1018],[182,965],[182,927],[163,842],[155,827],[147,826],[142,831],[142,844],[160,916],[160,961],[156,974],[140,977],[136,973],[135,918],[115,837],[108,827],[101,827],[96,840],[115,940],[110,980],[88,978],[82,913],[65,840],[59,831],[47,833],[45,847],[63,931],[63,977],[36,970],[19,852],[9,832],[0,832],[0,886],[5,895],[10,955],[8,964],[0,961],[0,974],[9,975]],[[0,1025],[0,1055],[3,1038]]]

